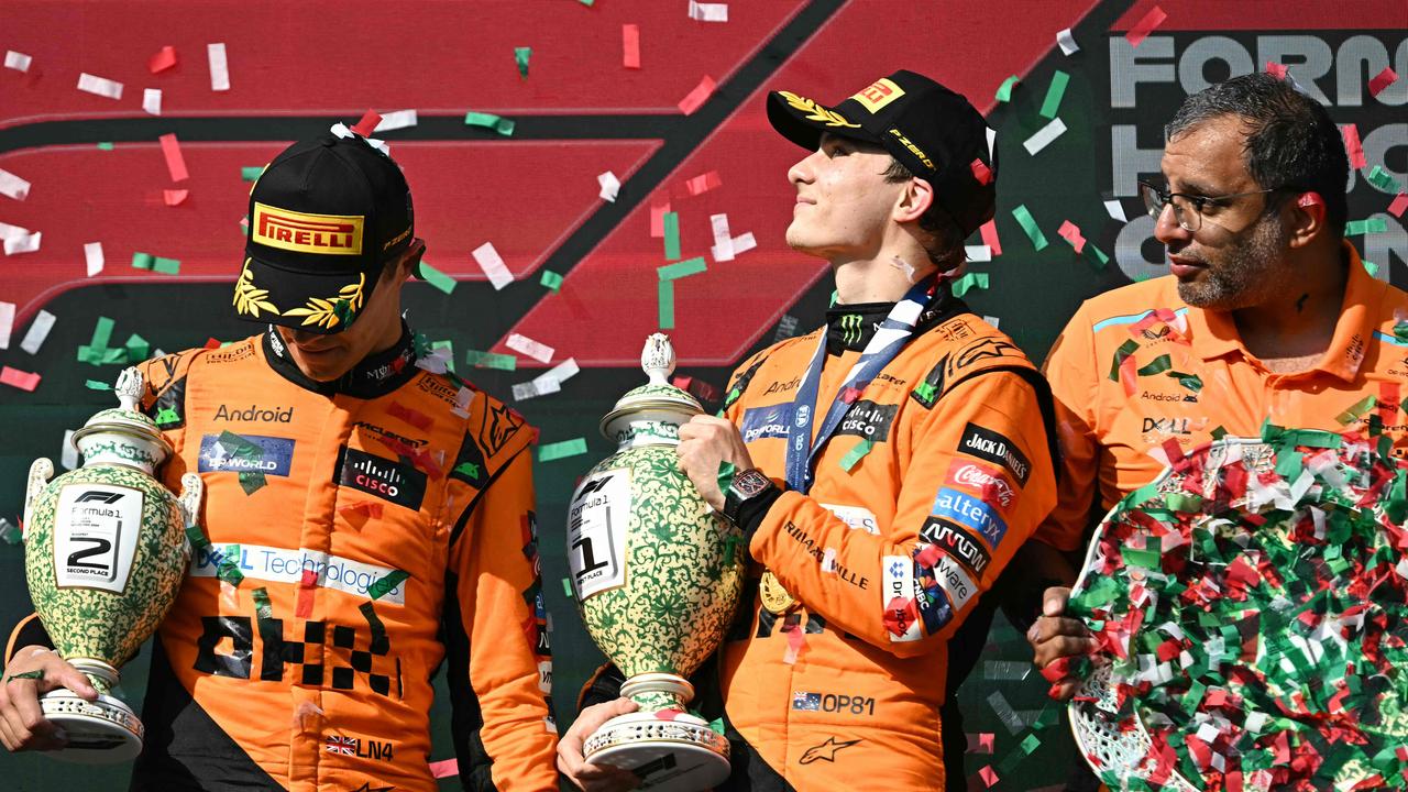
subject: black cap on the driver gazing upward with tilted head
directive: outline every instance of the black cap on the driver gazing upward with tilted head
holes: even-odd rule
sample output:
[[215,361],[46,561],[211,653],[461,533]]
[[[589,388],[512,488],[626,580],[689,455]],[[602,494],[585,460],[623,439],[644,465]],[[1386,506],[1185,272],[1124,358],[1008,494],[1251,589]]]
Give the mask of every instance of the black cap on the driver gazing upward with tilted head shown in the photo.
[[987,123],[963,94],[924,75],[898,70],[831,107],[774,90],[767,120],[811,151],[822,132],[883,147],[929,182],[964,237],[997,211],[997,148],[988,145]]

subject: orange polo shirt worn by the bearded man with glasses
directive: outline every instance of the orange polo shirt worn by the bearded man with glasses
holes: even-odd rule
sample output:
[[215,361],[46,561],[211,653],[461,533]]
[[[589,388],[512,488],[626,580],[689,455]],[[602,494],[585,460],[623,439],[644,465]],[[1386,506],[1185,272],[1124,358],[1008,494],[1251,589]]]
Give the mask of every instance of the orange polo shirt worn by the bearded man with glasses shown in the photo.
[[[1383,421],[1394,454],[1408,452],[1408,292],[1376,280],[1345,242],[1345,304],[1329,349],[1312,368],[1273,373],[1247,352],[1226,311],[1178,299],[1171,275],[1086,300],[1043,371],[1056,397],[1063,475],[1056,509],[1035,537],[1064,551],[1125,493],[1169,459],[1215,437],[1288,428],[1369,431]],[[1373,406],[1364,400],[1373,397]],[[1093,509],[1098,506],[1098,514]]]

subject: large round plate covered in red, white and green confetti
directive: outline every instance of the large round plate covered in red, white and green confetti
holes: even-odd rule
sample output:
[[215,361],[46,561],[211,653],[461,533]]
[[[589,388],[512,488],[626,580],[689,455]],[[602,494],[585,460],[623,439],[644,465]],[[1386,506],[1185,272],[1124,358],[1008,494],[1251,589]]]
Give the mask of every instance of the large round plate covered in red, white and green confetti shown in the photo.
[[1097,640],[1071,729],[1111,789],[1408,786],[1408,464],[1388,448],[1267,426],[1111,510],[1070,600]]

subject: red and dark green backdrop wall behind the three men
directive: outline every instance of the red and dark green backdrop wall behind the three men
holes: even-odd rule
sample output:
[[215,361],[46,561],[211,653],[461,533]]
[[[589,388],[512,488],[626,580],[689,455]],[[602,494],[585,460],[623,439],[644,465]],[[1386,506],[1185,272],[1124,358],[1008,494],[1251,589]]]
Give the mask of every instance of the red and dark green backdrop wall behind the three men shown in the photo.
[[[565,506],[576,479],[611,451],[597,419],[642,379],[641,342],[660,327],[656,268],[667,261],[652,216],[676,211],[681,258],[707,264],[674,283],[670,330],[680,373],[700,383],[721,388],[749,351],[814,327],[832,290],[824,264],[784,245],[786,169],[801,152],[767,127],[763,92],[835,101],[910,68],[987,113],[998,131],[1000,203],[993,238],[970,240],[990,245],[991,258],[972,251],[966,297],[1036,359],[1083,299],[1163,272],[1153,223],[1133,197],[1135,180],[1157,173],[1162,124],[1190,92],[1267,62],[1287,66],[1353,127],[1346,140],[1359,141],[1363,161],[1349,185],[1350,218],[1369,223],[1350,241],[1378,278],[1408,282],[1408,231],[1388,211],[1408,183],[1408,79],[1377,96],[1370,82],[1388,66],[1408,75],[1402,0],[727,6],[728,20],[715,23],[690,18],[684,0],[0,4],[0,51],[28,56],[10,55],[0,69],[0,169],[32,185],[24,200],[0,194],[11,254],[0,258],[0,340],[10,330],[0,364],[41,376],[32,392],[0,385],[0,517],[18,523],[30,461],[58,459],[65,430],[110,403],[84,380],[111,382],[120,366],[79,354],[101,317],[111,320],[113,347],[137,335],[175,351],[253,331],[230,313],[249,169],[367,109],[417,111],[414,125],[379,137],[415,192],[427,261],[453,283],[449,293],[407,289],[413,326],[448,341],[458,371],[504,397],[546,366],[522,355],[514,371],[470,361],[514,354],[504,345],[513,333],[552,347],[551,365],[572,358],[582,368],[559,393],[515,403],[543,444],[587,444],[584,455],[536,468],[563,724],[600,661],[562,595]],[[1156,7],[1166,18],[1135,47],[1131,31]],[[624,25],[639,34],[638,69],[624,65]],[[1057,45],[1063,28],[1077,52]],[[211,44],[224,45],[228,90],[213,90]],[[152,72],[163,47],[176,65]],[[522,47],[531,48],[527,75],[514,55]],[[121,97],[77,90],[80,73],[122,83]],[[1010,76],[1018,82],[1000,100]],[[146,89],[161,92],[159,116],[142,109]],[[511,134],[466,124],[469,111],[511,120]],[[1064,131],[1045,148],[1024,145],[1056,120]],[[189,176],[169,168],[162,135],[175,135]],[[614,202],[600,197],[605,172],[622,185]],[[1018,207],[1033,233],[1018,223]],[[731,261],[711,249],[719,214],[739,248]],[[1084,240],[1080,252],[1062,234],[1066,223]],[[32,247],[31,233],[38,249],[20,252]],[[742,249],[745,234],[752,249]],[[503,289],[472,255],[484,242],[514,278]],[[92,244],[101,247],[99,272]],[[179,264],[138,269],[137,254]],[[545,285],[556,282],[548,273],[562,278],[559,287]],[[38,349],[24,349],[41,310],[52,330]],[[0,544],[0,619],[27,610],[23,547]],[[980,788],[983,768],[1001,789],[1039,789],[1076,761],[1063,723],[1028,729],[1045,707],[1045,683],[1028,660],[1022,638],[998,620],[963,689],[969,772]],[[139,660],[124,675],[130,699],[141,700],[144,683]],[[435,723],[432,758],[444,760],[444,712]],[[0,768],[3,786],[23,791],[125,789],[128,775],[31,755],[4,755]],[[458,779],[442,785],[458,788]]]

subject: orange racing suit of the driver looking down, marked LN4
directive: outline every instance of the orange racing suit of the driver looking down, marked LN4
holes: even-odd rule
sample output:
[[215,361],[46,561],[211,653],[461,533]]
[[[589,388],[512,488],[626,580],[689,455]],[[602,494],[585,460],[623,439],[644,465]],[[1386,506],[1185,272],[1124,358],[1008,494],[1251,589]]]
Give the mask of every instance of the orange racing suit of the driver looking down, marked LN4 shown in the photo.
[[532,427],[460,407],[408,331],[335,383],[272,328],[141,368],[208,544],[153,643],[134,788],[434,791],[444,665],[466,788],[558,789]]

